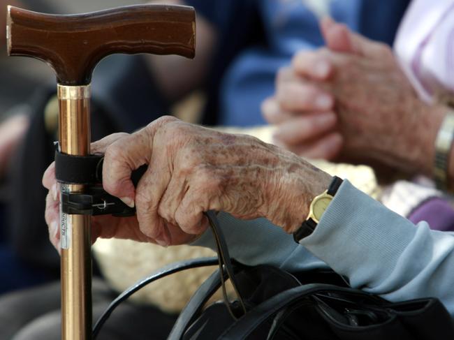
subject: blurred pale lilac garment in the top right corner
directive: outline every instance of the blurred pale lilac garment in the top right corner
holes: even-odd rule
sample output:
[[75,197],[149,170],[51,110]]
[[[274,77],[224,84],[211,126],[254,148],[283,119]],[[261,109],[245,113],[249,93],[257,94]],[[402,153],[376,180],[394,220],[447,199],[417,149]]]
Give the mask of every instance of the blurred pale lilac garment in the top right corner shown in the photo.
[[394,48],[420,98],[454,94],[454,0],[413,0]]

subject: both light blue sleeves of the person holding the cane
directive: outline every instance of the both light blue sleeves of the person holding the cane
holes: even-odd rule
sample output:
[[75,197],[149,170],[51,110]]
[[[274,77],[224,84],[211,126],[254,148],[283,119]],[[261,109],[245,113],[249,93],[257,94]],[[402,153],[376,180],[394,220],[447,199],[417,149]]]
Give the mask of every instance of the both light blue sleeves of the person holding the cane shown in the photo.
[[[288,270],[331,267],[351,286],[390,301],[438,297],[454,316],[454,235],[414,225],[344,180],[316,230],[295,244],[265,219],[219,214],[230,255]],[[214,242],[210,230],[196,245]]]

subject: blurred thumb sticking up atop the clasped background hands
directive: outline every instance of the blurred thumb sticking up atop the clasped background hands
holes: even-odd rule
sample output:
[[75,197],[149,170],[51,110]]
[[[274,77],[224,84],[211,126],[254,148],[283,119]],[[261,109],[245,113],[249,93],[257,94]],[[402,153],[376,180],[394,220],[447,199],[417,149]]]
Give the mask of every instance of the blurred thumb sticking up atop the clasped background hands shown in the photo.
[[376,57],[383,48],[381,44],[351,31],[345,24],[339,24],[330,17],[323,17],[320,29],[326,46],[334,52]]

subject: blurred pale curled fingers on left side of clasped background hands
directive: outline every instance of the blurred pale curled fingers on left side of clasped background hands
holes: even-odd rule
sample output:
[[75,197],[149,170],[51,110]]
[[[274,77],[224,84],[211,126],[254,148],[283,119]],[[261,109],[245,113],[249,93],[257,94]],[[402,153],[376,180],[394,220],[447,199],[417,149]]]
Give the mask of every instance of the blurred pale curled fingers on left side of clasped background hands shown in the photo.
[[[332,65],[307,52],[314,59],[313,72],[326,80]],[[276,93],[262,104],[270,124],[277,126],[274,143],[300,156],[331,159],[342,147],[342,135],[335,130],[335,98],[316,82],[295,73],[294,66],[281,68],[276,77]]]

